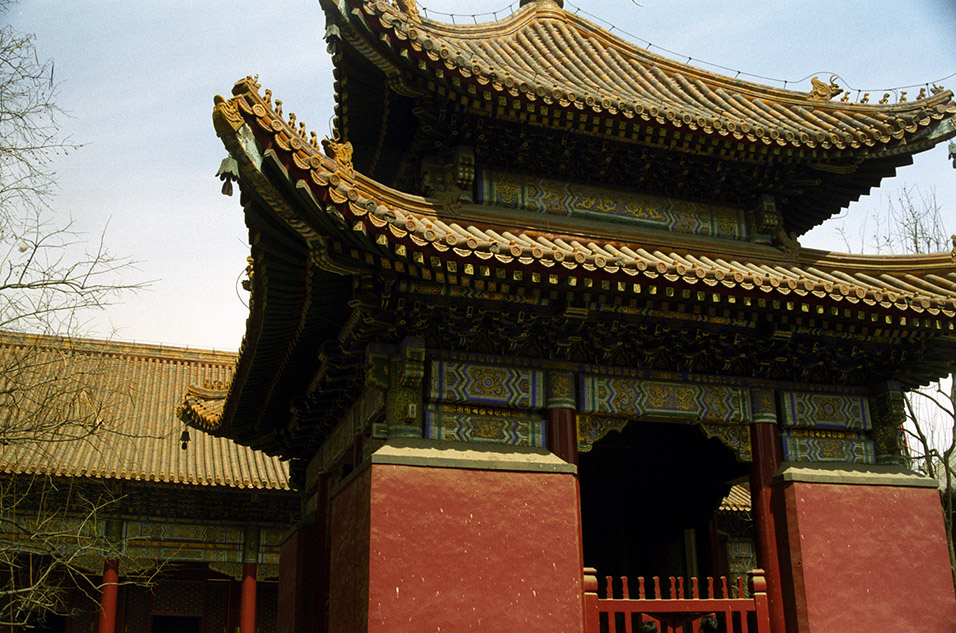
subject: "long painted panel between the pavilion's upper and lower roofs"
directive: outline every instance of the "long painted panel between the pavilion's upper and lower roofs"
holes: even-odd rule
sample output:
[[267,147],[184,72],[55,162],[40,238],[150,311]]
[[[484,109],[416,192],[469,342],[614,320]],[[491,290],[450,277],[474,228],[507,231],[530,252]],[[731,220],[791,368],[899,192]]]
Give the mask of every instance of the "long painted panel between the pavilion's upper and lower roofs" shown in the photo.
[[612,220],[647,228],[726,239],[747,239],[740,209],[589,185],[483,171],[481,204],[535,213]]

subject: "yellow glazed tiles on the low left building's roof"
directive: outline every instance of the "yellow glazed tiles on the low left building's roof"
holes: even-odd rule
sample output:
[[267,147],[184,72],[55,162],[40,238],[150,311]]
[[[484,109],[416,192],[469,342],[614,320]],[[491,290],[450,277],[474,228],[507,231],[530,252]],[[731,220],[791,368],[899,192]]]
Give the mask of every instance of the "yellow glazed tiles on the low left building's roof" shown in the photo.
[[[2,473],[289,489],[285,462],[231,440],[193,433],[187,449],[180,447],[182,394],[204,385],[207,406],[221,410],[216,394],[232,380],[234,353],[0,333],[0,359],[28,359],[33,380],[82,367],[93,398],[107,403],[104,430],[95,435],[0,446]],[[9,421],[9,409],[5,415]]]

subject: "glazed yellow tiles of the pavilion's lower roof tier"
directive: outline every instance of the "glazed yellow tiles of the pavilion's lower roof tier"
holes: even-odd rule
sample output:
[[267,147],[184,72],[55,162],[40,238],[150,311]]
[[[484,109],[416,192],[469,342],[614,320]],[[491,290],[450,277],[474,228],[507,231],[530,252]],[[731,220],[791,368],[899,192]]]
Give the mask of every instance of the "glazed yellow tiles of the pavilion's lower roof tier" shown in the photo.
[[237,83],[234,94],[229,102],[218,101],[214,120],[220,136],[241,158],[248,148],[235,134],[248,124],[268,149],[262,156],[245,156],[245,173],[268,189],[258,174],[260,165],[253,163],[271,161],[300,190],[311,192],[304,198],[307,205],[311,201],[309,220],[291,210],[288,215],[306,239],[318,235],[311,224],[318,220],[350,240],[364,240],[366,248],[381,256],[419,261],[438,272],[453,272],[449,262],[463,270],[469,264],[525,268],[555,278],[552,285],[558,287],[586,277],[628,288],[662,278],[694,290],[756,292],[778,300],[948,321],[956,317],[956,248],[934,255],[849,255],[796,243],[775,248],[695,240],[620,225],[592,223],[583,229],[558,216],[543,220],[540,214],[484,205],[465,204],[450,212],[440,201],[387,188],[325,156],[272,110],[252,80]]

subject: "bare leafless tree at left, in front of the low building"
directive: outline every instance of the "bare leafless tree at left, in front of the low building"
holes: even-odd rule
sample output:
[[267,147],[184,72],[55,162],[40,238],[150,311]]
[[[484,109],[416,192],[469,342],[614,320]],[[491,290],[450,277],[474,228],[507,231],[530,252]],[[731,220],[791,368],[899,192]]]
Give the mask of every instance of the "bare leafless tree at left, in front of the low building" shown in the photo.
[[[10,4],[0,0],[0,14]],[[108,488],[57,477],[55,466],[15,468],[18,456],[116,431],[110,411],[122,394],[103,389],[102,367],[69,337],[138,287],[123,281],[129,260],[53,213],[54,160],[78,149],[61,134],[56,92],[54,63],[40,61],[33,35],[0,29],[0,333],[22,335],[0,350],[0,627],[61,608],[67,586],[94,591],[79,563],[115,553],[98,523],[115,501]],[[43,345],[31,333],[65,338]]]

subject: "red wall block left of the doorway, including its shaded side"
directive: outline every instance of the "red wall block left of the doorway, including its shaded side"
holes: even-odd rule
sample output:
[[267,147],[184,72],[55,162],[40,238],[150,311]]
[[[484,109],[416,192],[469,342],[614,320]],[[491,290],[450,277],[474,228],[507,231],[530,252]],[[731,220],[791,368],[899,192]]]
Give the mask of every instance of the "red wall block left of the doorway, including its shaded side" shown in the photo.
[[340,612],[332,630],[365,630],[359,550],[368,539],[369,632],[580,633],[578,508],[570,474],[373,464],[333,500],[333,611],[356,601],[355,617]]

